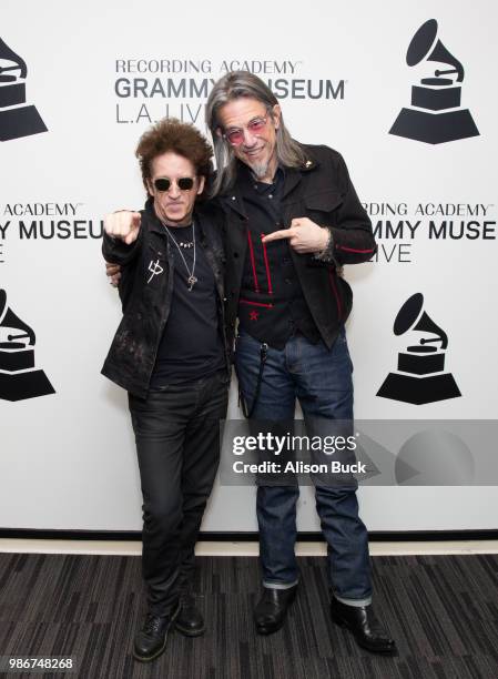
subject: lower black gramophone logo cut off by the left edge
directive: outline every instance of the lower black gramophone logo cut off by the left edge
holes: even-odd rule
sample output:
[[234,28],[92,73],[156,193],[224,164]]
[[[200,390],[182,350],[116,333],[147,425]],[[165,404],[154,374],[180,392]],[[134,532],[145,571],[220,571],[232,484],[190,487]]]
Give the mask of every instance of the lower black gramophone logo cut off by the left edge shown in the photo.
[[7,294],[0,290],[0,398],[24,401],[54,394],[44,372],[34,367],[32,328],[7,306]]

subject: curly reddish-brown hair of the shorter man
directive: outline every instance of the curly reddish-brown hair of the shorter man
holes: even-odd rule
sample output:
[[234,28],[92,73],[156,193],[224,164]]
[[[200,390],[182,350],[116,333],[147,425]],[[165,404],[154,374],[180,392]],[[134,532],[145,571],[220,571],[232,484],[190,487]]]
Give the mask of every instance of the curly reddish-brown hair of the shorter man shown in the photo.
[[[197,176],[206,180],[213,173],[213,149],[205,136],[192,124],[176,118],[163,118],[142,134],[135,155],[140,162],[142,181],[149,193],[148,180],[152,178],[152,161],[169,151],[189,160]],[[204,183],[205,193],[207,182]]]

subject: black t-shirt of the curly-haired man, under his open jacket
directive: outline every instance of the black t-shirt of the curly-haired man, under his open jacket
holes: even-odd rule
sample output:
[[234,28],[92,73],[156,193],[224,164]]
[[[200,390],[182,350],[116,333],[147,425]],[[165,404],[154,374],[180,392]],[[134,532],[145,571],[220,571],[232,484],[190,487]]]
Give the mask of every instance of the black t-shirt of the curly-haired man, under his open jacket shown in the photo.
[[[179,247],[172,242],[192,243],[192,225],[170,227],[167,235],[174,257],[173,295],[170,315],[161,338],[151,387],[190,382],[224,368],[223,340],[218,327],[214,273],[195,227],[195,270],[197,282],[190,291],[194,247]],[[185,259],[185,262],[182,259]]]

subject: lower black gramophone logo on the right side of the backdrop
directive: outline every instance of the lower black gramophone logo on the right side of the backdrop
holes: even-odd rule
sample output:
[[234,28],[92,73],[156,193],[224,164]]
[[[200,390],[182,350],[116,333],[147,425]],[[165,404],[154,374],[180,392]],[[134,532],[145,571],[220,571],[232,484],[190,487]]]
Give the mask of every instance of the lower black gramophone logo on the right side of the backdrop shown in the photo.
[[[398,353],[396,373],[389,373],[377,396],[423,405],[461,396],[450,373],[445,373],[448,336],[424,311],[424,295],[411,295],[394,322],[395,335],[421,333],[418,344]],[[435,346],[438,345],[438,346]]]

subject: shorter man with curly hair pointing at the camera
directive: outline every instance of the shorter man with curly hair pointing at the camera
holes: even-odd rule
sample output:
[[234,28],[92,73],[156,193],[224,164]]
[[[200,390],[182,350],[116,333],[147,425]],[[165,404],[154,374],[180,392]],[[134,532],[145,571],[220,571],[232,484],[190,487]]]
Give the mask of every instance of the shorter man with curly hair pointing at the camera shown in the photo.
[[123,318],[102,373],[128,391],[135,434],[149,610],[133,655],[146,661],[163,652],[172,626],[191,637],[205,629],[194,546],[218,465],[228,362],[221,217],[202,200],[212,149],[170,119],[142,135],[136,156],[145,207],[105,221],[103,255],[121,265]]

